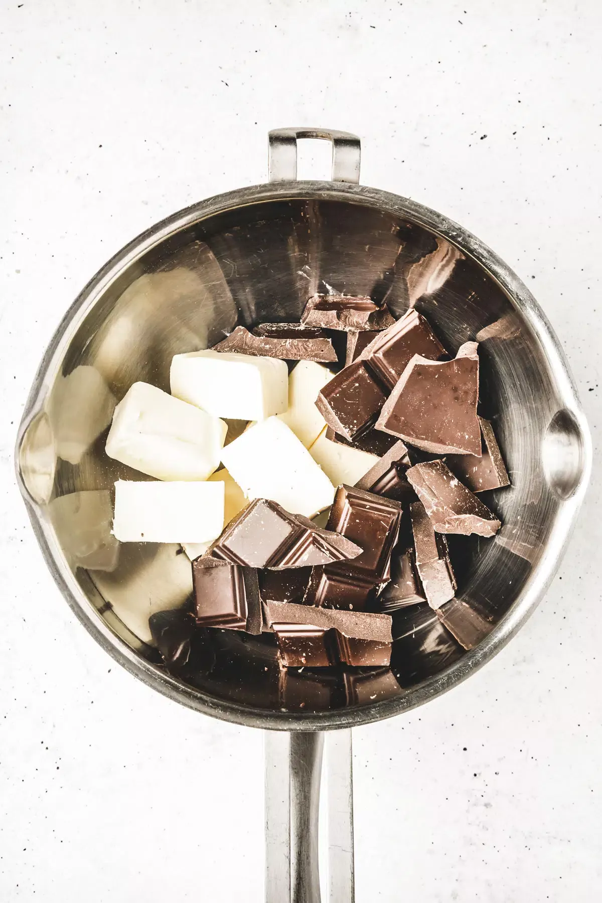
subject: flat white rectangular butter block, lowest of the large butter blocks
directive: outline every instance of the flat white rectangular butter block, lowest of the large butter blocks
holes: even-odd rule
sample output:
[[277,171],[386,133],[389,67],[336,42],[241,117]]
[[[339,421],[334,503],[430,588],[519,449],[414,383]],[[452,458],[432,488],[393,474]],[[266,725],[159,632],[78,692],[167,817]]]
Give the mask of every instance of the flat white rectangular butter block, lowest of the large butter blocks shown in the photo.
[[224,483],[115,484],[113,533],[122,543],[208,543],[224,526]]

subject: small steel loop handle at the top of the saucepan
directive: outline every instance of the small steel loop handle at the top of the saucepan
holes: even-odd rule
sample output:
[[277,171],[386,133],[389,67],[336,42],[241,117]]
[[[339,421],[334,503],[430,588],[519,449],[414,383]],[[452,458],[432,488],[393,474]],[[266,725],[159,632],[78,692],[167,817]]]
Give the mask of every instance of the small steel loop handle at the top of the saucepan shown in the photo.
[[269,133],[270,182],[294,182],[297,178],[298,138],[323,138],[332,142],[332,181],[359,182],[359,138],[331,128],[274,128]]

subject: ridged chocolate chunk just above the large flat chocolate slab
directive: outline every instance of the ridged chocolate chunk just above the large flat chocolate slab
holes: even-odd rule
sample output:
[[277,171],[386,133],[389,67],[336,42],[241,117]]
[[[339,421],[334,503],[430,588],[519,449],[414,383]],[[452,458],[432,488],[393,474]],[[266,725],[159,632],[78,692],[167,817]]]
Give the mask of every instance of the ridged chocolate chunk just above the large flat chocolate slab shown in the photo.
[[359,355],[379,377],[384,386],[393,389],[415,354],[437,360],[446,353],[428,322],[418,311],[408,311],[388,329],[378,332]]

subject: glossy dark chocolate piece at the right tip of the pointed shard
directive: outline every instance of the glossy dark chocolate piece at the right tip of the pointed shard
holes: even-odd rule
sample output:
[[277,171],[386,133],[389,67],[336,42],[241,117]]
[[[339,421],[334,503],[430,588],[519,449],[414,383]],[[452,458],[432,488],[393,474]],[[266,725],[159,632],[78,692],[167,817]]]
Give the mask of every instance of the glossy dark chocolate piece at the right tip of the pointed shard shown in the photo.
[[373,585],[388,580],[401,519],[399,502],[353,486],[339,486],[328,528],[357,542],[364,551],[353,561],[330,564],[328,573],[347,574]]

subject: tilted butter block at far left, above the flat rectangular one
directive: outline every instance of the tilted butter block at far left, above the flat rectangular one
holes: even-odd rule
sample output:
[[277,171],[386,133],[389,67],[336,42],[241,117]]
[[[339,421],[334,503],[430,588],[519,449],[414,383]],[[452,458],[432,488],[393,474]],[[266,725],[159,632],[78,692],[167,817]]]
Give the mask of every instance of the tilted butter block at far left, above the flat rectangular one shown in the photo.
[[107,455],[157,479],[207,479],[217,470],[227,425],[149,383],[116,406]]

